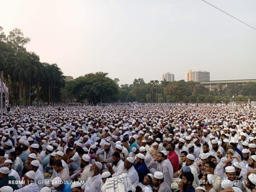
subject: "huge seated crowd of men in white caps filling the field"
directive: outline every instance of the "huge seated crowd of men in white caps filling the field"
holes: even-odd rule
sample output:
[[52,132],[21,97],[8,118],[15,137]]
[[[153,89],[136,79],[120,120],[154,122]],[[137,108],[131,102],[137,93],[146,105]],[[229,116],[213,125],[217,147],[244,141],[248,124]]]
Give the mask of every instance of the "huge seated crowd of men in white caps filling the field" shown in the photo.
[[59,108],[1,115],[0,192],[256,191],[254,104]]

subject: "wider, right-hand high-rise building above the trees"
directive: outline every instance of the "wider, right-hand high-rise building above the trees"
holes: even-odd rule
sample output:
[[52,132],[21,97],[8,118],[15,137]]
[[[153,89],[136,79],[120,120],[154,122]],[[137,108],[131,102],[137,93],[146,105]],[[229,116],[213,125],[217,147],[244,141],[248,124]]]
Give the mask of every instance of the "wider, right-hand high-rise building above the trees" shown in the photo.
[[185,81],[210,81],[210,72],[189,70],[187,73],[185,73]]

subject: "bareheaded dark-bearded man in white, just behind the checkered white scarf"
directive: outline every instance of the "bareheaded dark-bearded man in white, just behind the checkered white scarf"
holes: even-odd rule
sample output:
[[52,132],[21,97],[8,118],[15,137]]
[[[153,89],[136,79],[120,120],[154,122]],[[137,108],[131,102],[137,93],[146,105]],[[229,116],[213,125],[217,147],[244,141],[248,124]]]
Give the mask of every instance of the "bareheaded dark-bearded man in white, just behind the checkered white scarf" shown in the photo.
[[112,155],[113,167],[107,164],[106,167],[109,169],[112,177],[116,177],[122,174],[124,168],[124,162],[120,158],[119,152],[114,152]]

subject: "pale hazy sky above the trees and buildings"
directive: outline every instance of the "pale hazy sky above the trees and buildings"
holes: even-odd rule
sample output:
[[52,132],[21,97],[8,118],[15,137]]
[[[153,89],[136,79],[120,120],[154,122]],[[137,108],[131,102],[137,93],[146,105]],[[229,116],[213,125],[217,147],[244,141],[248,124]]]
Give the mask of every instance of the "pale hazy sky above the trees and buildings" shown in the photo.
[[[256,28],[255,0],[206,0]],[[256,79],[256,30],[202,0],[1,0],[0,26],[17,27],[41,62],[64,75],[104,71],[119,84],[210,71]]]

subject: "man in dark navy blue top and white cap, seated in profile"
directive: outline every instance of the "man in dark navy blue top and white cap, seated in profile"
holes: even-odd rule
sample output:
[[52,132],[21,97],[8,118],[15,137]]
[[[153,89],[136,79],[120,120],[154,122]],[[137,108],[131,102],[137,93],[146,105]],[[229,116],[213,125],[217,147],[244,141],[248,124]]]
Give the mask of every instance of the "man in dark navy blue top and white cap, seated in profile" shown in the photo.
[[145,160],[144,154],[139,153],[137,154],[136,163],[133,164],[135,170],[138,173],[139,182],[142,182],[144,176],[149,173],[147,165],[145,164],[144,160]]

